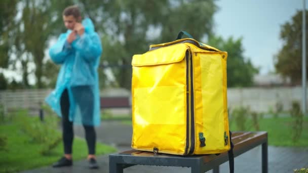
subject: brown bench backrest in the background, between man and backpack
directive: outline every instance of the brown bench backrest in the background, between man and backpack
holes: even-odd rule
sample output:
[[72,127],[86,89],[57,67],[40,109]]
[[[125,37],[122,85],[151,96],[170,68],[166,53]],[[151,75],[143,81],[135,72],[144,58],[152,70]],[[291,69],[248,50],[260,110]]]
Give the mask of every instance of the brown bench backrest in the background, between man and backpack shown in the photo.
[[131,108],[129,97],[100,97],[100,108]]

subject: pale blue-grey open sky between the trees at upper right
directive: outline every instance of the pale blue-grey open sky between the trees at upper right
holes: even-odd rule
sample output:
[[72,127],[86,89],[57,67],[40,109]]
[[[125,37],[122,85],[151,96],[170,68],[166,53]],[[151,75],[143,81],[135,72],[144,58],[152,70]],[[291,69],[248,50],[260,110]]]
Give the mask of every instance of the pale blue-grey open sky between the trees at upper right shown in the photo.
[[260,73],[275,71],[273,56],[282,48],[281,25],[302,10],[303,1],[219,0],[216,3],[220,10],[214,16],[214,31],[224,39],[242,36],[244,55],[261,67]]

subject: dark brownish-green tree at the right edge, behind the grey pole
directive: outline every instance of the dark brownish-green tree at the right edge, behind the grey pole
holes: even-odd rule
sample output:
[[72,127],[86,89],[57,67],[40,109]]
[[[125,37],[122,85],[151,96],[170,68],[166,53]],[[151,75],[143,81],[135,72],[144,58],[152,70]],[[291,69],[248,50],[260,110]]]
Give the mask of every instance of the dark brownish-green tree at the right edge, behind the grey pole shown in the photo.
[[[306,11],[306,33],[308,31],[308,11]],[[290,77],[293,84],[301,82],[302,71],[302,11],[292,17],[291,21],[281,26],[280,38],[283,47],[274,57],[276,71],[284,77]],[[307,42],[307,35],[306,35]],[[306,44],[306,50],[308,44]],[[307,57],[305,57],[307,59]],[[307,66],[306,66],[307,68]]]

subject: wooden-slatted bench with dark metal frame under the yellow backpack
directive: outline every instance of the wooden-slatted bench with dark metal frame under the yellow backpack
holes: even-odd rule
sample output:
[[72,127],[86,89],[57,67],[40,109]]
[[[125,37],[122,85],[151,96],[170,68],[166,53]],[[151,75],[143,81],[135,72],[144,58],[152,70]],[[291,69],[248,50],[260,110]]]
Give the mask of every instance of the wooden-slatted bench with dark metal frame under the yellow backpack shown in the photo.
[[[233,132],[234,157],[262,145],[262,172],[267,173],[267,132]],[[228,161],[227,152],[219,155],[178,156],[157,154],[137,150],[124,151],[109,155],[109,172],[123,173],[123,169],[134,165],[181,166],[191,167],[191,172],[204,173],[213,169],[219,172],[219,165]]]

